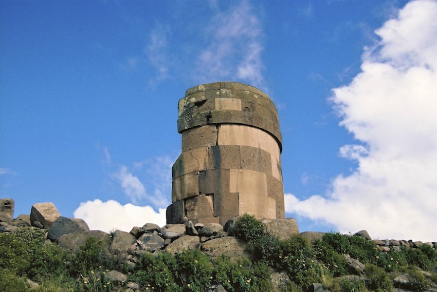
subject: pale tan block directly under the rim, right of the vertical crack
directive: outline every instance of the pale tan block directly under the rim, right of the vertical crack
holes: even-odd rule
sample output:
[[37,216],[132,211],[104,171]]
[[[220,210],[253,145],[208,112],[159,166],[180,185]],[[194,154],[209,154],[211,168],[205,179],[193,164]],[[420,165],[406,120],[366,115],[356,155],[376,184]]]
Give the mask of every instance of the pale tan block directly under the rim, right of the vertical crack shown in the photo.
[[244,125],[220,125],[217,135],[217,144],[259,146],[258,129]]

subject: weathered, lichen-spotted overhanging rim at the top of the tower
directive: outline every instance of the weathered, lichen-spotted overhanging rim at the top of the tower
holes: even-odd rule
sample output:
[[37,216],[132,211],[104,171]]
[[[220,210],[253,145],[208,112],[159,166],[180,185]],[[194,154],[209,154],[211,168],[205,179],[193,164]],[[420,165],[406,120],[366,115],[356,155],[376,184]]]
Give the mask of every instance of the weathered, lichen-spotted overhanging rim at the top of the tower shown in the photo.
[[282,149],[282,135],[275,105],[256,87],[238,82],[202,84],[187,90],[179,100],[177,129],[210,124],[242,124],[271,134]]

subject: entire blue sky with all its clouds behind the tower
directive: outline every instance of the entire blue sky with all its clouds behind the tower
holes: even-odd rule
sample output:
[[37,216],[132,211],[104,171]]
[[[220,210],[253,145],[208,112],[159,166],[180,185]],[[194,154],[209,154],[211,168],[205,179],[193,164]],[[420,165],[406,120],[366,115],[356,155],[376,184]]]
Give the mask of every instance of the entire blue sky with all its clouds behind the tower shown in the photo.
[[[177,101],[256,86],[301,231],[437,240],[437,2],[2,1],[0,197],[165,224]],[[128,230],[129,231],[129,230]]]

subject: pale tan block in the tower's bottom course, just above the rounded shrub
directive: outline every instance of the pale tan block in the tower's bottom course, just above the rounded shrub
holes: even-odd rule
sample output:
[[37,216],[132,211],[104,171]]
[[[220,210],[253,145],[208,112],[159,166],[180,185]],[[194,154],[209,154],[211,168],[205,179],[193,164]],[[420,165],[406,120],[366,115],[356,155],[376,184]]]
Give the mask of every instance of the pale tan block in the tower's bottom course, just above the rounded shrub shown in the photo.
[[258,218],[276,219],[275,199],[262,196],[260,193],[239,193],[239,213],[248,213]]

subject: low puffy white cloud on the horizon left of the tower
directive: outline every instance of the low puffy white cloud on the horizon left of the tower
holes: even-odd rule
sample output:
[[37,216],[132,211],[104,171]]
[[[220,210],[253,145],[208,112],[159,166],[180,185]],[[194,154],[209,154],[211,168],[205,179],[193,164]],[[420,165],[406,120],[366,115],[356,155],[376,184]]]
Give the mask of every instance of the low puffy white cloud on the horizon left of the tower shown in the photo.
[[166,209],[159,208],[155,212],[150,206],[121,205],[117,201],[100,200],[81,203],[74,212],[75,218],[83,219],[90,230],[109,232],[114,229],[131,231],[134,226],[143,226],[145,223],[166,225]]

